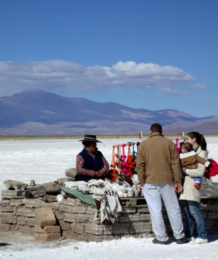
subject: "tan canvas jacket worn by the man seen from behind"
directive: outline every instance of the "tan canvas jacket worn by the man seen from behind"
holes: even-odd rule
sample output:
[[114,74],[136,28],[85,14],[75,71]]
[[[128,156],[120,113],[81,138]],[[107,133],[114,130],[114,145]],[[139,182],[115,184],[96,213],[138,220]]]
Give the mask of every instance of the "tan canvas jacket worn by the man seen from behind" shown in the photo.
[[152,134],[139,146],[136,170],[142,185],[181,184],[182,171],[175,143],[162,134]]

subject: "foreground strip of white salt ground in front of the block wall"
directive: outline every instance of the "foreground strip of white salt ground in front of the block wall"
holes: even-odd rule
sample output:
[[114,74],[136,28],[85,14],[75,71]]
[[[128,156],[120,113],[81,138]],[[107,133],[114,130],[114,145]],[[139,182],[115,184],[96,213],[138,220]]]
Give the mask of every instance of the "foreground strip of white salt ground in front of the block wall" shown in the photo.
[[124,237],[99,243],[72,240],[42,243],[19,232],[1,233],[0,259],[217,259],[218,236],[209,236],[209,243],[202,245],[177,245],[172,237],[168,245],[154,245],[152,239]]

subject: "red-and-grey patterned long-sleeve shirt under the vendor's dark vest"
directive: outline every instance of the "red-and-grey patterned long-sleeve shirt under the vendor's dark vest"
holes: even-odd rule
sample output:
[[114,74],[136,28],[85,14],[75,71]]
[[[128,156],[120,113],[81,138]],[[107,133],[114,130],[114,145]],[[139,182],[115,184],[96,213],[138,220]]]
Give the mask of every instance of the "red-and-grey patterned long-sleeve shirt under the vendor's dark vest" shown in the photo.
[[[95,151],[89,149],[86,146],[85,146],[85,149],[87,150],[89,155],[91,155],[95,159],[95,154],[94,154]],[[108,169],[109,169],[109,164],[108,164],[107,160],[104,158],[103,155],[102,155],[102,161],[103,161],[104,167],[103,167],[103,169],[99,170],[101,176],[106,174],[108,172]],[[84,161],[83,157],[81,157],[80,155],[77,155],[77,157],[76,157],[76,172],[77,172],[77,174],[87,175],[87,176],[91,176],[91,177],[95,176],[95,171],[85,169],[84,164],[85,164],[85,161]]]

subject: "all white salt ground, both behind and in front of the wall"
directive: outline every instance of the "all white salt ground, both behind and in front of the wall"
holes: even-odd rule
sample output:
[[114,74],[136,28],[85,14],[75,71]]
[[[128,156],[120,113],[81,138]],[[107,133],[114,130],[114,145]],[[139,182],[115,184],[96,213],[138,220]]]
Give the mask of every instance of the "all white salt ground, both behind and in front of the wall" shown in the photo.
[[[105,147],[99,143],[99,150],[110,163],[112,145],[139,140],[101,141]],[[207,137],[206,141],[208,157],[218,161],[218,137]],[[81,149],[77,140],[1,141],[0,192],[5,189],[6,179],[26,183],[35,179],[36,183],[43,183],[64,177],[66,169],[75,167]],[[213,181],[218,182],[218,176]],[[100,243],[73,240],[42,243],[19,232],[0,232],[0,259],[217,259],[218,236],[209,236],[209,243],[203,245],[177,245],[173,238],[169,245],[154,245],[152,239],[124,237]]]

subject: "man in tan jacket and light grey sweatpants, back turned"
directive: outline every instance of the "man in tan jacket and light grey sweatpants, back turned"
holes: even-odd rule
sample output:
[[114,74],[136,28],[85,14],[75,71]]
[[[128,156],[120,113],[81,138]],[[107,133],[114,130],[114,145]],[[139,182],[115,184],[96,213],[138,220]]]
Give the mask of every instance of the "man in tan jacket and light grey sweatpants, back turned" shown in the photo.
[[176,192],[181,193],[182,172],[173,141],[164,138],[162,126],[150,127],[151,136],[143,141],[137,151],[136,170],[143,187],[151,215],[152,228],[156,238],[154,244],[166,244],[165,224],[162,216],[163,199],[167,215],[177,244],[186,243],[183,233],[181,210]]

